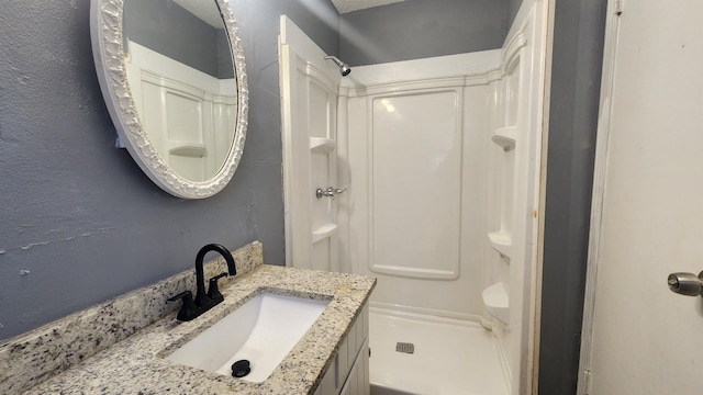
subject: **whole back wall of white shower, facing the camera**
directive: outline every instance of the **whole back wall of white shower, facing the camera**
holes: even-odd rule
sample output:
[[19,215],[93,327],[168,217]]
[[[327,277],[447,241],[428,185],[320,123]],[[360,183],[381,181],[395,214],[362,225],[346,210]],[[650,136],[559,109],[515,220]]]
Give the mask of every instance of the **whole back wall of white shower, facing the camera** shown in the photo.
[[[349,185],[343,268],[379,279],[371,303],[482,313],[489,83],[500,53],[356,67],[341,151]],[[343,88],[345,86],[343,84]]]

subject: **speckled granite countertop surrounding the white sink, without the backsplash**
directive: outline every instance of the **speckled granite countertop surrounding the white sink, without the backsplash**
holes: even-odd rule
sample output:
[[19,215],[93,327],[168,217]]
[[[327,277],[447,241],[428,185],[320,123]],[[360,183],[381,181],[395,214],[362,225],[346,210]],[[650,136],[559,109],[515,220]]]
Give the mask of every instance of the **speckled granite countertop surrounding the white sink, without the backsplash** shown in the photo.
[[[30,388],[27,394],[312,394],[367,302],[376,279],[261,264],[221,287],[225,301],[188,323],[170,313],[124,340]],[[161,358],[263,292],[331,301],[263,383]]]

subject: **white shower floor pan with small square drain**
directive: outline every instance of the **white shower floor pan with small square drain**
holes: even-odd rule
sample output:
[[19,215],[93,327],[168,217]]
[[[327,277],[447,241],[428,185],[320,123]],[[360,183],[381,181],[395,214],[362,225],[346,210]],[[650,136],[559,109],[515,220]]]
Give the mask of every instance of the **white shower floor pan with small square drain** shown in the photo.
[[[371,307],[371,395],[507,395],[496,341],[475,321]],[[414,345],[413,353],[397,345]]]

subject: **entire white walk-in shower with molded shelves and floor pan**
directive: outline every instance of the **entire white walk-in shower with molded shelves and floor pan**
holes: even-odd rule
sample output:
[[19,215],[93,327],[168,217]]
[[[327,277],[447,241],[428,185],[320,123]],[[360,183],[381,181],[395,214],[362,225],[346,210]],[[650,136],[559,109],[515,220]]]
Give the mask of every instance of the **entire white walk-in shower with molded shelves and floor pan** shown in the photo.
[[500,49],[344,78],[281,24],[287,263],[378,278],[372,394],[528,392],[545,13]]

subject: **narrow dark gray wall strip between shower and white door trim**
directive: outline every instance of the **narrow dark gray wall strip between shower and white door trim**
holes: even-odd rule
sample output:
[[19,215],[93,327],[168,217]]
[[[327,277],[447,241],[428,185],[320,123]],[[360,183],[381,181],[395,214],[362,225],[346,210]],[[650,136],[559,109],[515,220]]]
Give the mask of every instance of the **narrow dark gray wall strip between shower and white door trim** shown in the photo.
[[555,10],[539,394],[576,394],[607,0]]

